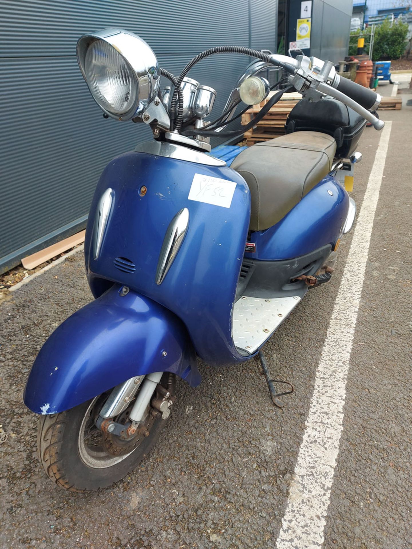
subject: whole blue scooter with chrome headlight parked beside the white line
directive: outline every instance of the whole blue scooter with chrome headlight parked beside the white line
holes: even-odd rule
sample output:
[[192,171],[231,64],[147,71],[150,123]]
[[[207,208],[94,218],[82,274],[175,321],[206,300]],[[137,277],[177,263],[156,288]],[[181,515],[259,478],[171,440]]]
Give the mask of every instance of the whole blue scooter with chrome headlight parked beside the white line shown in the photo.
[[[231,52],[255,60],[206,121],[216,92],[187,74]],[[77,59],[104,116],[146,124],[154,137],[103,171],[85,240],[95,299],[49,337],[25,389],[26,406],[41,414],[46,473],[83,491],[123,478],[148,453],[174,406],[176,376],[201,382],[197,355],[215,366],[259,357],[283,405],[261,348],[310,288],[329,281],[356,212],[335,175],[345,159],[360,160],[366,121],[383,122],[371,114],[376,93],[304,55],[211,48],[176,77],[141,38],[104,29],[80,38]],[[272,85],[259,76],[269,69]],[[160,90],[160,76],[170,87]],[[243,150],[231,167],[208,154],[210,137],[240,137],[292,89],[303,99],[286,135]],[[264,100],[242,132],[226,130]]]

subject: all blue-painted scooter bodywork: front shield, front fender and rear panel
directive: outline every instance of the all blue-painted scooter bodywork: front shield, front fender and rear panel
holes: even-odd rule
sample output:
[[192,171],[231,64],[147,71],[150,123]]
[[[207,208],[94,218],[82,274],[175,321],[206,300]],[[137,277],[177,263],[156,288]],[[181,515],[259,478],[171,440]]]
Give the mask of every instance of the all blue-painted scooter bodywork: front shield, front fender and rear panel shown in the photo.
[[[231,207],[188,200],[195,173],[235,181]],[[101,254],[94,260],[96,207],[108,187],[113,203]],[[252,233],[257,251],[245,256],[292,259],[332,244],[348,204],[344,189],[326,177],[277,225]],[[188,231],[170,271],[157,285],[166,229],[182,208],[190,211]],[[247,360],[233,344],[231,317],[249,218],[249,189],[227,166],[137,152],[110,162],[94,194],[86,231],[86,271],[97,299],[68,318],[43,345],[27,380],[26,406],[37,413],[57,413],[125,379],[155,371],[174,372],[195,386],[201,381],[195,350],[220,366]],[[116,258],[130,260],[136,270],[119,270]],[[125,296],[119,294],[122,284],[131,289]]]

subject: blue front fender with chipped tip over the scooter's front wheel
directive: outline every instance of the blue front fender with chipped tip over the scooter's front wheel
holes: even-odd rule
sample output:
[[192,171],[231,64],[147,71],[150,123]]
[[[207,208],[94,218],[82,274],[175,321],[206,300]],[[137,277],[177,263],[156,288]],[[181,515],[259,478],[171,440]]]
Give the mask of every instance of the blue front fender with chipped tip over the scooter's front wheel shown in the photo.
[[201,382],[179,318],[132,290],[122,295],[121,288],[116,284],[82,307],[44,343],[24,391],[30,410],[62,412],[151,372],[173,372],[192,386]]

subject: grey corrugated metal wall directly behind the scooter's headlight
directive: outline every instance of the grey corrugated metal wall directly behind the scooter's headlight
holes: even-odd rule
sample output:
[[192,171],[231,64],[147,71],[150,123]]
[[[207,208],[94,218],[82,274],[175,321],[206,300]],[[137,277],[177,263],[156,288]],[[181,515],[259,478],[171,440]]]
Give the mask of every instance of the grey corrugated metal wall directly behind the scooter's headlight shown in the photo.
[[[77,67],[79,36],[131,30],[175,74],[211,46],[276,51],[277,0],[3,0],[0,14],[0,272],[83,228],[104,166],[151,135],[103,119]],[[214,115],[248,62],[215,55],[191,71],[218,91]]]

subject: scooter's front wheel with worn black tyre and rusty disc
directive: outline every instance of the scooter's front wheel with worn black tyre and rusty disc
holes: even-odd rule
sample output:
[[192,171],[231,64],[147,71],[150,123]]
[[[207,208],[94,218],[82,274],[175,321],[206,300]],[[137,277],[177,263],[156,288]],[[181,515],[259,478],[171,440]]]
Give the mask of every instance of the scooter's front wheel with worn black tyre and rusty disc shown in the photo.
[[[165,420],[148,406],[142,429],[127,441],[96,427],[96,418],[110,391],[71,410],[41,416],[37,446],[49,478],[71,491],[98,490],[135,469],[159,438]],[[129,408],[116,418],[125,423]]]

